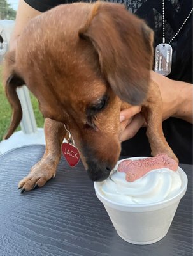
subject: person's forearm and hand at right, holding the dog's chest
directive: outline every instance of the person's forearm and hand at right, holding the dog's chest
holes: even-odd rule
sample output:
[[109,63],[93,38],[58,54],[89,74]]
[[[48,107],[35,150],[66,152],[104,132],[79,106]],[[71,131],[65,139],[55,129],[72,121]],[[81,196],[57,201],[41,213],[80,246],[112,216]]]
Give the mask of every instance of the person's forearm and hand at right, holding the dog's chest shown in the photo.
[[[151,72],[151,78],[161,91],[163,100],[162,120],[170,116],[181,118],[192,123],[193,117],[193,86],[182,81],[171,80],[160,74]],[[141,106],[132,106],[120,112],[121,134],[120,141],[132,138],[145,124],[143,116],[140,114]]]

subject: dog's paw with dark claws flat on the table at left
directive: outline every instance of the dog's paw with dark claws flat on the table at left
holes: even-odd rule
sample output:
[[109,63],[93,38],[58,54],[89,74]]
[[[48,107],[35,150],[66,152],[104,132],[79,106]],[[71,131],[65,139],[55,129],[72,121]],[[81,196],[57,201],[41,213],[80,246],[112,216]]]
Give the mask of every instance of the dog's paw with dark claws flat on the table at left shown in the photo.
[[36,164],[32,169],[29,175],[24,177],[18,183],[18,189],[21,189],[21,193],[25,191],[30,191],[34,188],[42,187],[46,184],[48,180],[55,177],[55,170],[53,167],[49,168],[48,164]]

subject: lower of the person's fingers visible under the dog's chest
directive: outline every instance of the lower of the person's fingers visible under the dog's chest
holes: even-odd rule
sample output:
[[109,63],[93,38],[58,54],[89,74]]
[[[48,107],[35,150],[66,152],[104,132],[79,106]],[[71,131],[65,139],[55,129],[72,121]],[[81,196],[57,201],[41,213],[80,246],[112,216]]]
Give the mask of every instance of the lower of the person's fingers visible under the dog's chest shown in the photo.
[[141,114],[137,114],[132,119],[132,122],[125,127],[125,124],[120,126],[120,141],[125,141],[131,139],[139,131],[141,126],[144,124],[145,120]]

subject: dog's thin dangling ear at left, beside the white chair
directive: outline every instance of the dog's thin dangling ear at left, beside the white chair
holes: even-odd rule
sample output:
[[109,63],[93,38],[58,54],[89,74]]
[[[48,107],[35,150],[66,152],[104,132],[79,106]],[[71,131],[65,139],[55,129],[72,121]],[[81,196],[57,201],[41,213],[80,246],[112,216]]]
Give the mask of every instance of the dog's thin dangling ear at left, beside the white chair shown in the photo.
[[24,85],[24,81],[15,73],[15,51],[8,52],[4,60],[3,83],[6,97],[12,108],[11,124],[4,139],[10,138],[18,124],[22,120],[22,107],[16,89],[18,86]]

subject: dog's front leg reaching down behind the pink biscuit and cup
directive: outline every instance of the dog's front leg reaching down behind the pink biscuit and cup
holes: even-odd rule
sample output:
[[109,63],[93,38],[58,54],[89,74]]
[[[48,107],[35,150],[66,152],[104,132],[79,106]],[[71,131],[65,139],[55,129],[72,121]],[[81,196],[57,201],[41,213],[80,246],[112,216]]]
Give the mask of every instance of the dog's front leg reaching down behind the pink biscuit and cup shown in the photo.
[[150,94],[147,103],[142,108],[142,113],[147,122],[147,137],[152,150],[152,156],[166,153],[178,161],[173,150],[169,147],[162,130],[162,99],[159,86],[153,81],[150,83]]

